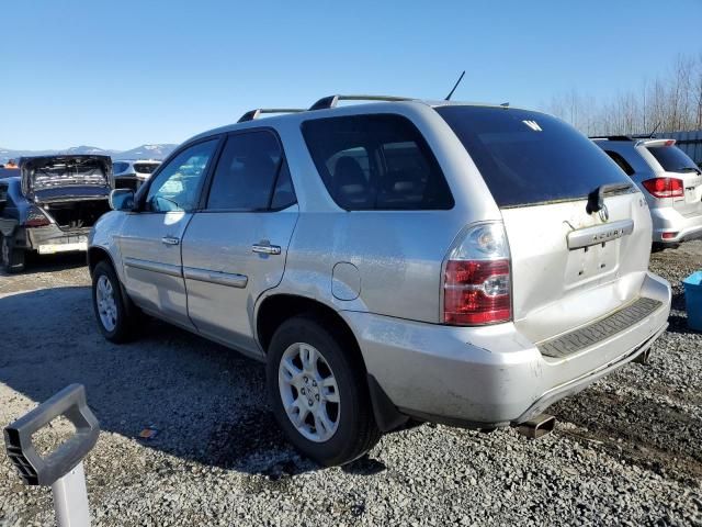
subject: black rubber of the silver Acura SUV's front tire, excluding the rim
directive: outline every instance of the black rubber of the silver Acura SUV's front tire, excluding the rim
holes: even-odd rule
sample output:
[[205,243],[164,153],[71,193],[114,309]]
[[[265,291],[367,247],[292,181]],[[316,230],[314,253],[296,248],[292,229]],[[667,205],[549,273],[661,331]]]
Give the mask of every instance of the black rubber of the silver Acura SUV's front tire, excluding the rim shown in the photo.
[[[102,277],[104,277],[112,287],[114,304],[116,307],[114,327],[105,327],[105,323],[102,322],[100,316],[100,309],[98,306],[98,284]],[[124,292],[117,274],[114,272],[114,269],[107,261],[99,262],[92,272],[92,307],[95,313],[98,327],[107,340],[121,344],[134,338],[136,334],[136,309]]]

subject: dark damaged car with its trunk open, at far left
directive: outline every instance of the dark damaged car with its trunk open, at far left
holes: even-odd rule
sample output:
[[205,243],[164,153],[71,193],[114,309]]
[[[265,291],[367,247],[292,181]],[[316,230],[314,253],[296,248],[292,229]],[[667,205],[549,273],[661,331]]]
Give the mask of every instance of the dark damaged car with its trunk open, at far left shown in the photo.
[[0,179],[0,264],[24,270],[29,253],[87,250],[88,233],[110,210],[114,187],[109,156],[20,159],[19,175]]

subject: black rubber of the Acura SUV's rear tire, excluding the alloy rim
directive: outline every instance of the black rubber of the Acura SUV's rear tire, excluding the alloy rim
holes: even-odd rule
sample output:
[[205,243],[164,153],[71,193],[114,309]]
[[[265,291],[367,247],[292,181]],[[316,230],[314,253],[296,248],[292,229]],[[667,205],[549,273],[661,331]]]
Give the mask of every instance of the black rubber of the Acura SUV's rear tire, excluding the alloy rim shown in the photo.
[[[373,417],[365,369],[355,350],[355,344],[326,327],[312,315],[299,315],[285,321],[276,329],[268,349],[268,391],[273,415],[290,441],[305,456],[331,467],[349,463],[366,453],[381,438]],[[296,343],[314,346],[328,362],[339,392],[339,414],[336,433],[324,442],[306,438],[288,418],[279,388],[279,367],[285,350]]]

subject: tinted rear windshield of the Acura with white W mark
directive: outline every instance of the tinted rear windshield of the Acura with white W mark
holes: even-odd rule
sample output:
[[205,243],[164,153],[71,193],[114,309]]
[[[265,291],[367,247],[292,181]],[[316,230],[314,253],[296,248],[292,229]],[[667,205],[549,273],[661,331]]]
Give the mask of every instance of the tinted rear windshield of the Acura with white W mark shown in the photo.
[[586,198],[631,180],[573,126],[526,110],[441,106],[499,206]]

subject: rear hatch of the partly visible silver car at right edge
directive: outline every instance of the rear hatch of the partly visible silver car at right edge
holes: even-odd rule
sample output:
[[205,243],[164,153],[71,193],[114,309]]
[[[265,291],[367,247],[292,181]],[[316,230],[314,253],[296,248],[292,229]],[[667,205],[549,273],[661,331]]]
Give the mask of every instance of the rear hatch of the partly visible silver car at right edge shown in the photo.
[[681,183],[671,184],[672,194],[659,198],[670,204],[683,216],[702,214],[702,170],[688,155],[675,145],[673,139],[643,141],[638,148],[645,148],[655,160],[649,165],[658,178],[670,178]]

